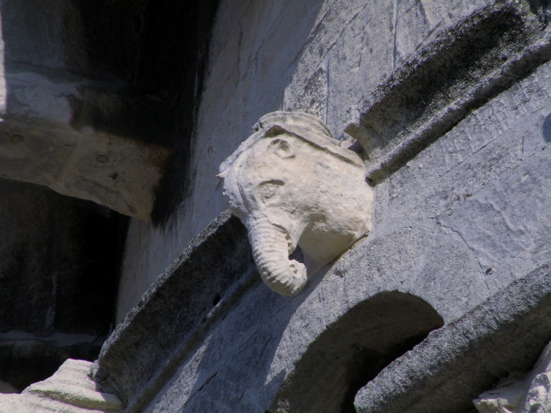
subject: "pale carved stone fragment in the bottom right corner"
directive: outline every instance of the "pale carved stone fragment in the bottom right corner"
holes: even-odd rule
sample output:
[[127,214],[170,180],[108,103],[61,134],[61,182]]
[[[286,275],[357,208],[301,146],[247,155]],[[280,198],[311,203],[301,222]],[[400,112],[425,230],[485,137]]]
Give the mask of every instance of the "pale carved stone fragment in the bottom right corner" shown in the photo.
[[551,343],[525,379],[503,383],[473,402],[481,413],[551,412]]

